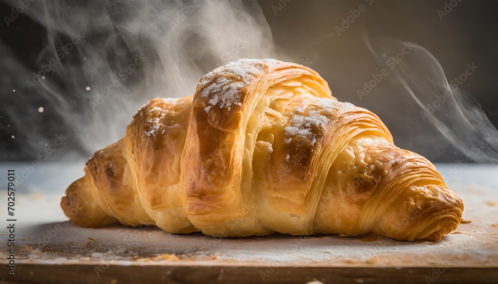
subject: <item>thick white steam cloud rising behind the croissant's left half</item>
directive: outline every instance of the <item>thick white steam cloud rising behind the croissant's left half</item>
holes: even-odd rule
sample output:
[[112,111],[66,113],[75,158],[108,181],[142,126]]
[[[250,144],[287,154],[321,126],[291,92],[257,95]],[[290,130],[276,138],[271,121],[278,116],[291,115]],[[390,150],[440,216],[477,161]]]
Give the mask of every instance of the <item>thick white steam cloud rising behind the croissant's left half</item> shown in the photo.
[[[55,66],[47,80],[18,79],[34,84],[26,83],[27,95],[59,112],[85,157],[123,137],[147,100],[191,95],[204,74],[230,61],[275,57],[255,0],[45,0],[24,14],[47,32],[36,66]],[[33,124],[29,115],[20,119]],[[34,149],[43,147],[30,138]]]

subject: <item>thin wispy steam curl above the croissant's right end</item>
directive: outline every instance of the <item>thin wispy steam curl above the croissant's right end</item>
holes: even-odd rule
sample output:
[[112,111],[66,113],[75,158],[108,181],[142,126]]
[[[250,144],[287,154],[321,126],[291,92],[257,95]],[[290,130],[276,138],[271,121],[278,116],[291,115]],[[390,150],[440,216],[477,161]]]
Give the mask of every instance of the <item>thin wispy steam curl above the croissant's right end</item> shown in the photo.
[[420,45],[394,40],[380,40],[375,45],[367,40],[367,44],[375,58],[397,56],[390,62],[391,79],[419,107],[422,123],[434,126],[465,154],[465,163],[498,163],[497,129],[481,105],[459,88],[478,66],[469,62],[459,77],[448,82],[441,64]]

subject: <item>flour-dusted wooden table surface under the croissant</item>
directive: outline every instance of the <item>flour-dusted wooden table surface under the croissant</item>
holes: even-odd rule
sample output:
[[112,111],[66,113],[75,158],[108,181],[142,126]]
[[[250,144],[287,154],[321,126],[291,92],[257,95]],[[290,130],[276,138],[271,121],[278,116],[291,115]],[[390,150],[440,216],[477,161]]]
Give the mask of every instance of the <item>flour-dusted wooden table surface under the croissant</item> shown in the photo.
[[[13,167],[21,171],[21,166]],[[6,226],[0,230],[0,280],[498,284],[498,166],[467,165],[451,178],[457,165],[438,165],[464,200],[464,218],[471,222],[460,224],[436,243],[399,242],[375,235],[216,239],[173,235],[152,226],[82,228],[66,221],[58,205],[65,187],[81,175],[81,169],[65,166],[65,175],[46,181],[43,177],[54,167],[61,171],[61,166],[44,166],[16,191],[15,277],[6,275],[8,234]],[[0,172],[4,169],[0,165]],[[0,212],[6,216],[5,192],[1,190]]]

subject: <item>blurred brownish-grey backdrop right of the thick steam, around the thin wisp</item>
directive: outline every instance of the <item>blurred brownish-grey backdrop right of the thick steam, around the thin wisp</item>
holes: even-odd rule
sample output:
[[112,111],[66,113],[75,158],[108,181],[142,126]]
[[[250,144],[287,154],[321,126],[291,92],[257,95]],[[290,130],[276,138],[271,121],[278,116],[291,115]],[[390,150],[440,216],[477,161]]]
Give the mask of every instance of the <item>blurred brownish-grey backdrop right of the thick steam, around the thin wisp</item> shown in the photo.
[[[365,44],[365,36],[425,47],[437,58],[449,81],[465,72],[467,64],[475,63],[479,68],[460,88],[476,98],[491,122],[498,125],[498,1],[374,0],[369,5],[370,1],[364,0],[292,0],[282,10],[273,6],[280,7],[279,2],[285,1],[259,1],[278,48],[310,63],[339,100],[376,113],[397,146],[433,162],[463,158],[421,119],[419,109],[412,107],[413,101],[406,100],[402,91],[387,80],[360,100],[357,90],[380,68]],[[335,27],[361,4],[366,10],[338,35]],[[445,4],[451,7],[448,13]],[[446,14],[438,14],[438,10]]]

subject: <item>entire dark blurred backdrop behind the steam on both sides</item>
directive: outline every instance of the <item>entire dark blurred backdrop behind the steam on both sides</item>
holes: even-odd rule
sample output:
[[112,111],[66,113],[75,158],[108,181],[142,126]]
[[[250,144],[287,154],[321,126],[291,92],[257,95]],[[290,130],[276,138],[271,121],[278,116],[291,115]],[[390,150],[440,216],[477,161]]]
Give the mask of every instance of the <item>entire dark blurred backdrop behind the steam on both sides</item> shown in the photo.
[[[462,157],[451,144],[430,126],[419,125],[410,118],[392,88],[375,88],[363,100],[356,91],[378,71],[378,65],[365,45],[365,35],[416,42],[430,51],[441,63],[447,78],[459,76],[467,64],[479,69],[460,88],[474,96],[491,122],[498,125],[498,1],[461,0],[451,12],[440,19],[449,0],[373,0],[372,5],[340,36],[335,26],[350,10],[358,9],[364,0],[306,1],[259,0],[271,28],[278,52],[296,63],[306,63],[318,71],[342,101],[366,107],[375,112],[391,130],[396,145],[425,155],[433,162],[454,162]],[[456,1],[453,1],[456,3]],[[10,12],[0,1],[0,16]],[[279,8],[276,8],[279,7]],[[281,8],[281,9],[280,9]],[[64,117],[43,104],[43,98],[18,82],[12,58],[23,68],[37,71],[39,53],[43,48],[44,28],[21,14],[8,28],[0,21],[0,160],[33,160],[37,150],[30,140],[53,140],[53,133],[67,131]],[[2,47],[8,47],[7,49]],[[301,61],[301,62],[300,62]],[[54,79],[56,80],[56,79]],[[385,88],[384,88],[385,87]],[[13,93],[12,90],[16,92]],[[22,94],[22,104],[11,103]],[[71,94],[67,94],[68,96]],[[44,112],[38,113],[38,105]],[[15,107],[15,109],[12,109]],[[9,111],[6,109],[9,108]],[[34,123],[22,125],[9,112],[27,116]],[[131,119],[131,117],[130,117]],[[10,125],[10,126],[8,126]],[[31,136],[32,129],[41,135]],[[43,137],[43,133],[47,133]],[[50,134],[48,134],[50,133]],[[15,138],[11,138],[14,135]],[[80,152],[78,141],[69,141],[58,155]],[[95,149],[97,150],[97,149]]]

